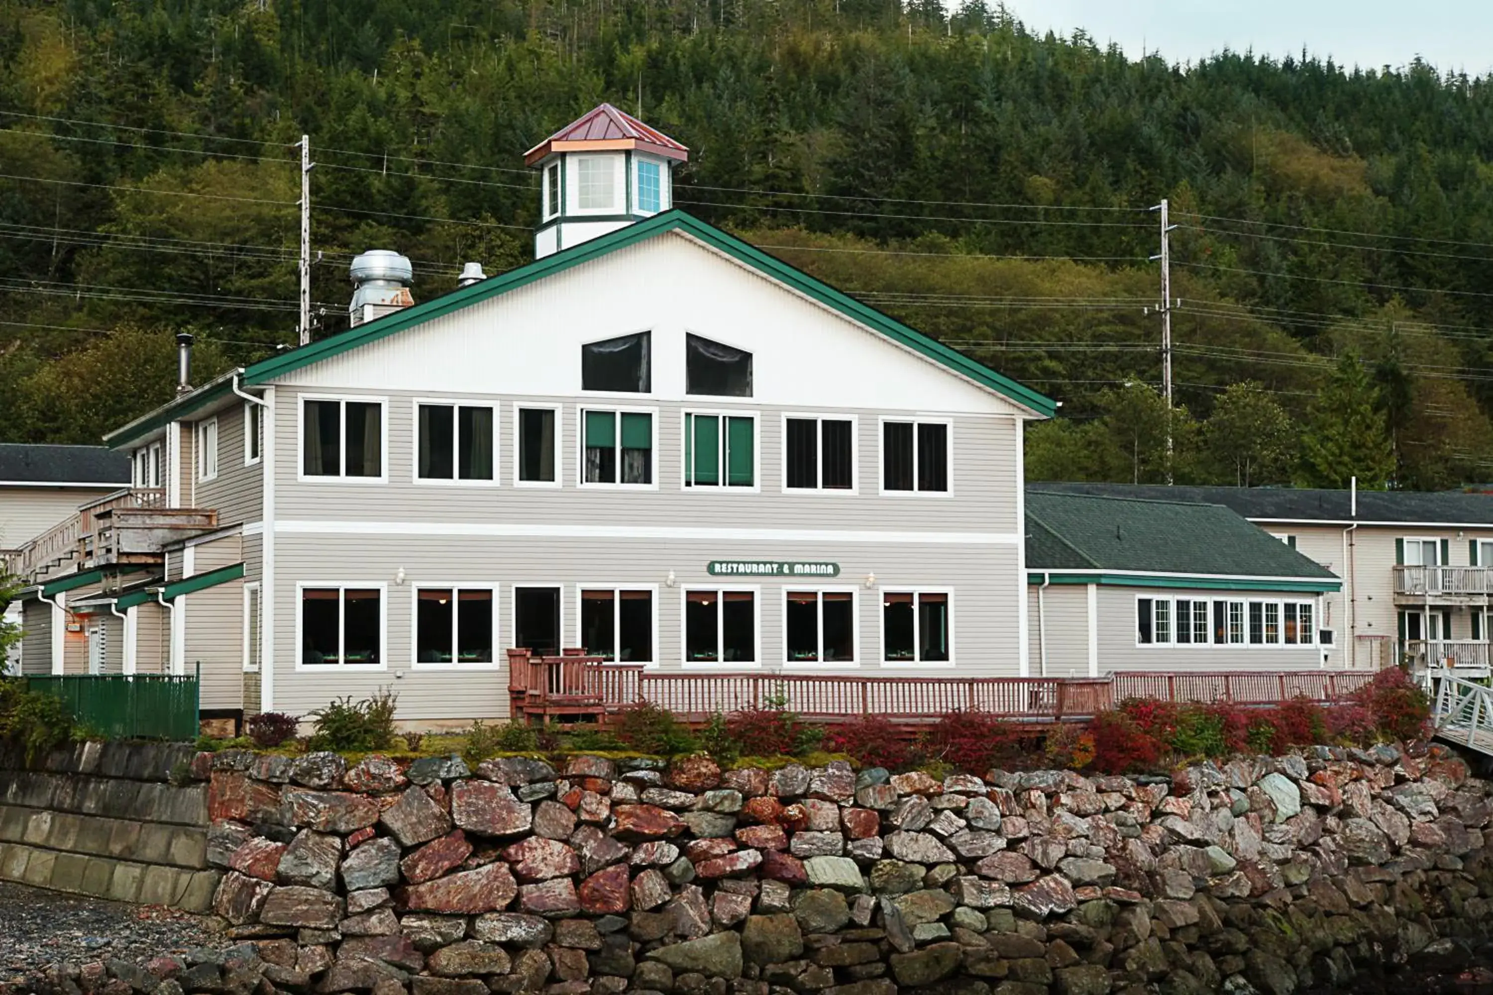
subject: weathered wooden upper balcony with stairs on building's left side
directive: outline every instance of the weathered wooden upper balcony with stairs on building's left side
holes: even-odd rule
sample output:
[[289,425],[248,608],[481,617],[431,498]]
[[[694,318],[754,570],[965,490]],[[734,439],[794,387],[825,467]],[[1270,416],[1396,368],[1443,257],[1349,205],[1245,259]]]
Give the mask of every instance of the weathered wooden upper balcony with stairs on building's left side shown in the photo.
[[96,567],[152,567],[161,546],[218,524],[211,509],[166,507],[160,488],[124,488],[82,506],[6,556],[10,573],[42,583]]

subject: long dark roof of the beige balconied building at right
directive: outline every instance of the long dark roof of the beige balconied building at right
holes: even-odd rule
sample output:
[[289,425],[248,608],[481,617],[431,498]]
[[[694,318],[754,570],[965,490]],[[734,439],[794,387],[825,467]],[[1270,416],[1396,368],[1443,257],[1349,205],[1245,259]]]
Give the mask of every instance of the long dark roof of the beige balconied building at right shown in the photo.
[[1314,488],[1165,486],[1160,483],[1042,483],[1045,491],[1223,504],[1259,522],[1383,522],[1493,525],[1493,494],[1460,491],[1348,491]]

